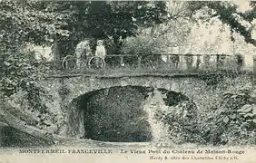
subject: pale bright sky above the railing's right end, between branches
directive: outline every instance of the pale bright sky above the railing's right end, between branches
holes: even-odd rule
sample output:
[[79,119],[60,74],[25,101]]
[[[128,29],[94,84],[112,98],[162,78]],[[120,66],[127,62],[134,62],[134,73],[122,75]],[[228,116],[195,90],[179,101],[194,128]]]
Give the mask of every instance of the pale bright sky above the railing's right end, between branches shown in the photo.
[[[246,12],[251,10],[249,1],[240,0],[233,1],[238,5],[239,12]],[[256,20],[252,23],[256,24]],[[245,23],[243,23],[245,24]],[[220,30],[222,29],[222,33]],[[245,43],[244,38],[240,34],[234,34],[235,43],[231,42],[230,29],[226,24],[218,19],[212,19],[212,24],[194,25],[189,42],[193,44],[192,53],[226,53],[235,54],[241,53],[245,57],[247,66],[252,66],[252,56],[256,52],[256,48],[250,43]],[[256,39],[256,30],[252,32],[252,37]]]

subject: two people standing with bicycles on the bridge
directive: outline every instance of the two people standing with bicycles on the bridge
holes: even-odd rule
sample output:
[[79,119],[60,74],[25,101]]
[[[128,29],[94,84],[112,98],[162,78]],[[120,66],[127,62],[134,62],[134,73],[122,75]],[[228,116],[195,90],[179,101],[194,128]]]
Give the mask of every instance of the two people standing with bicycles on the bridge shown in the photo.
[[103,40],[97,41],[96,51],[93,54],[92,49],[90,47],[90,42],[88,40],[84,40],[81,43],[78,43],[75,48],[75,57],[76,57],[76,65],[77,67],[81,66],[82,60],[88,60],[89,57],[96,56],[95,61],[98,64],[99,59],[102,58],[104,60],[106,55],[105,47],[103,46]]

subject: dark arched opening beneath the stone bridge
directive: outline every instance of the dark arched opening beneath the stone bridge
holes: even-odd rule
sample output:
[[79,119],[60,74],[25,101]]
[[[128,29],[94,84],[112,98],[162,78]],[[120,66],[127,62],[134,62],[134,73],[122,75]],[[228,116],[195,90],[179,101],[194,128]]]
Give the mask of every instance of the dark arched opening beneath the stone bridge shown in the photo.
[[143,86],[115,86],[90,91],[68,111],[68,135],[111,142],[170,139],[164,112],[189,99],[182,93]]

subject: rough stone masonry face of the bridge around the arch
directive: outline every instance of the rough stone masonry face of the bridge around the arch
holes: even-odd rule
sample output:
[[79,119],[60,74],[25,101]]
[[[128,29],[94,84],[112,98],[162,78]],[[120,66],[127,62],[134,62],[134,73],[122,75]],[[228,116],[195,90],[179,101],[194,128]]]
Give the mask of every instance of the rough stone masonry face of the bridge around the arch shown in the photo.
[[[234,79],[223,79],[228,82],[220,82],[217,86],[207,85],[207,82],[197,77],[124,77],[124,78],[96,78],[96,77],[72,77],[55,79],[50,78],[42,83],[48,88],[50,94],[54,96],[54,110],[61,110],[66,122],[71,120],[74,110],[74,101],[85,93],[111,88],[114,86],[143,86],[165,89],[168,91],[181,92],[183,95],[193,101],[199,110],[207,110],[213,103],[219,101],[222,91],[233,87]],[[239,80],[243,80],[239,78]],[[244,80],[246,81],[246,80]],[[51,106],[49,106],[51,107]],[[81,121],[81,117],[74,117],[74,121]],[[67,123],[66,123],[67,124]],[[67,126],[63,125],[60,134],[67,136]],[[81,128],[77,123],[77,128]],[[82,133],[83,131],[81,131]],[[70,135],[70,134],[68,134]],[[79,135],[74,133],[72,135]]]

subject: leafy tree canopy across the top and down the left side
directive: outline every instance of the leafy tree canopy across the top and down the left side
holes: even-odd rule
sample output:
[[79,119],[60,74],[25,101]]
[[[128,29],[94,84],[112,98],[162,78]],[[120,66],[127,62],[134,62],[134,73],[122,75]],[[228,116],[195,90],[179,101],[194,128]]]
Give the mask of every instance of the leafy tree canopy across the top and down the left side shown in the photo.
[[[40,93],[44,90],[36,84],[44,75],[38,72],[39,62],[34,60],[34,53],[21,52],[26,43],[45,45],[57,41],[60,53],[66,55],[74,53],[74,45],[82,38],[92,37],[93,45],[96,39],[105,39],[111,44],[109,49],[114,47],[112,53],[120,53],[118,49],[122,46],[122,40],[137,36],[142,29],[151,28],[151,36],[162,39],[168,35],[166,33],[173,31],[173,21],[188,18],[207,20],[217,16],[224,24],[231,26],[231,32],[243,35],[247,43],[256,46],[251,36],[253,25],[247,28],[241,24],[241,20],[252,24],[256,15],[254,2],[251,2],[252,10],[245,13],[238,12],[238,6],[228,2],[168,3],[0,1],[1,99],[7,99],[18,91],[26,91],[26,98],[33,110],[39,110],[42,114],[47,111],[44,103],[39,102]],[[207,16],[201,14],[196,18],[195,15],[200,12]],[[164,30],[159,28],[162,24],[165,25]],[[177,31],[176,35],[188,31]],[[5,116],[6,120],[10,120]]]

